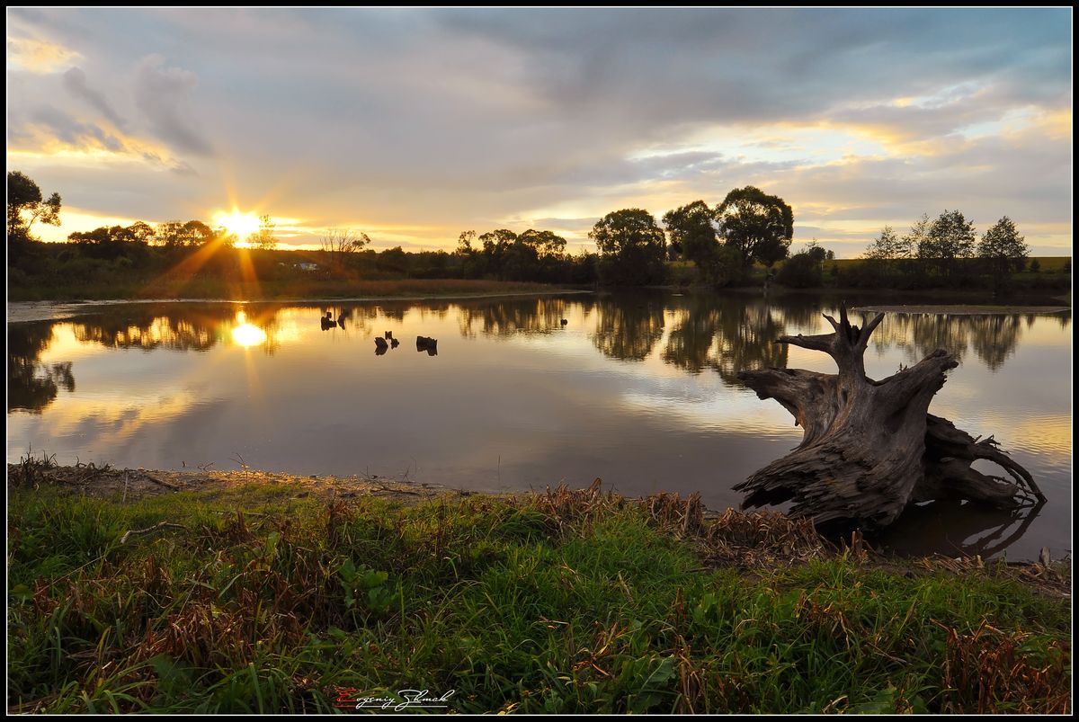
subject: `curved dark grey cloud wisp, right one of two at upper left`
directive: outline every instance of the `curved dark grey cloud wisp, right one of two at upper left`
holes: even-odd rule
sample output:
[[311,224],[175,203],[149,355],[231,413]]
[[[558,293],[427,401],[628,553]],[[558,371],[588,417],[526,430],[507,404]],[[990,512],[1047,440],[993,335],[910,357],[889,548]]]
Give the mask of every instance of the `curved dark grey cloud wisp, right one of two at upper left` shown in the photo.
[[181,68],[166,68],[160,55],[148,55],[135,73],[135,104],[150,121],[159,138],[178,151],[211,155],[213,148],[187,117],[188,96],[199,77]]

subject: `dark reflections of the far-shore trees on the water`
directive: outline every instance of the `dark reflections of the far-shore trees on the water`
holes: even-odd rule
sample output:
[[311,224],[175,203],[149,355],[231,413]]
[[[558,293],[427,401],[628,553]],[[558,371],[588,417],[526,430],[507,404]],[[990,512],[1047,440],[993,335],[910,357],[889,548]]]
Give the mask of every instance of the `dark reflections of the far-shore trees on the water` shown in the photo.
[[[365,338],[372,332],[382,335],[386,329],[377,326],[383,322],[405,323],[406,315],[420,325],[455,315],[465,338],[572,332],[579,330],[575,324],[584,319],[589,341],[604,356],[641,362],[656,353],[664,363],[688,373],[710,369],[725,384],[740,385],[736,378],[740,370],[787,367],[788,348],[775,340],[787,333],[817,332],[822,301],[804,296],[765,300],[751,295],[633,292],[476,301],[388,300],[324,304],[320,310],[314,305],[301,308],[310,310],[312,319],[330,311],[343,322],[343,330],[358,330]],[[147,303],[97,306],[94,315],[73,321],[9,324],[9,411],[40,411],[56,398],[59,389],[74,389],[70,362],[49,367],[40,362],[56,324],[70,324],[81,343],[109,349],[205,352],[231,338],[241,309],[246,323],[264,331],[265,340],[259,345],[263,353],[272,355],[279,346],[278,316],[297,306]],[[564,326],[561,322],[566,317],[574,321]],[[896,346],[911,363],[940,348],[960,362],[972,351],[995,371],[1014,354],[1024,328],[1029,329],[1036,317],[889,313],[874,335],[873,344],[882,355]],[[1057,314],[1056,318],[1066,328],[1070,313]]]

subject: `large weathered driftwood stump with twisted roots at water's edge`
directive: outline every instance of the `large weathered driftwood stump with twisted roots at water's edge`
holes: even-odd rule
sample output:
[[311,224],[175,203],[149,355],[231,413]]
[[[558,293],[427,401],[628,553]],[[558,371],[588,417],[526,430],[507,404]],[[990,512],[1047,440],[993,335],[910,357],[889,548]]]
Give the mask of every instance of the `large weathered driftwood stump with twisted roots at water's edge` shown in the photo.
[[[874,381],[865,376],[863,355],[884,314],[862,328],[850,325],[845,305],[838,322],[824,318],[833,333],[783,336],[777,343],[823,351],[835,359],[837,374],[777,368],[738,374],[760,398],[779,401],[805,431],[791,453],[735,486],[748,493],[743,508],[793,500],[790,513],[817,523],[884,527],[910,503],[945,496],[1000,508],[1044,501],[1030,474],[993,437],[979,441],[928,413],[945,372],[958,365],[947,352],[938,350]],[[978,459],[996,462],[1011,480],[971,468]]]

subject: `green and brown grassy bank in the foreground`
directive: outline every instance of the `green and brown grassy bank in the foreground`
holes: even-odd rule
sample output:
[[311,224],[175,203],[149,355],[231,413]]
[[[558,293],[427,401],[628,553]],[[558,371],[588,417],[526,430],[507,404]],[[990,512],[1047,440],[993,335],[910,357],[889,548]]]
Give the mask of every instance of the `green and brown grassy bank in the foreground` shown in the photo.
[[461,712],[1070,710],[1060,570],[873,559],[595,487],[122,501],[32,465],[9,485],[12,710],[327,712],[406,689]]

